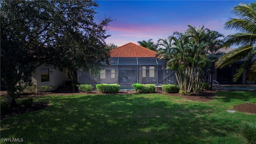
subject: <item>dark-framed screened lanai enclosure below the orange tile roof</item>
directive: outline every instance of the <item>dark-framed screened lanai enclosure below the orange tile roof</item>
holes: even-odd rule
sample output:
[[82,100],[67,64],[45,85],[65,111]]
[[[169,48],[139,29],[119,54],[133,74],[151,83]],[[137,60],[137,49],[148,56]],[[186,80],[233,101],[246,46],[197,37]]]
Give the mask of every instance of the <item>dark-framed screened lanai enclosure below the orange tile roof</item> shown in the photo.
[[173,70],[166,70],[165,60],[156,58],[112,57],[100,75],[78,71],[79,84],[177,84]]

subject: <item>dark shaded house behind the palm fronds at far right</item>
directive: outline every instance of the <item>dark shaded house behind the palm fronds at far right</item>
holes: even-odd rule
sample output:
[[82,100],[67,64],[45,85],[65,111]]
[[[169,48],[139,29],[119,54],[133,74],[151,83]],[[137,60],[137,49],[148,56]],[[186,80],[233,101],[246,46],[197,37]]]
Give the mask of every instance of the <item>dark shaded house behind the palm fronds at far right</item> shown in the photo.
[[[217,52],[223,52],[228,53],[230,51],[234,50],[234,48],[221,48]],[[255,60],[256,56],[252,59]],[[243,60],[239,60],[237,62],[234,62],[232,64],[229,64],[228,66],[225,66],[224,68],[218,68],[214,70],[214,74],[212,74],[212,79],[216,80],[219,84],[256,84],[256,81],[254,82],[248,82],[248,78],[246,78],[246,71],[240,76],[237,82],[233,82],[234,74],[236,74],[236,71],[239,69],[239,67],[243,64]]]

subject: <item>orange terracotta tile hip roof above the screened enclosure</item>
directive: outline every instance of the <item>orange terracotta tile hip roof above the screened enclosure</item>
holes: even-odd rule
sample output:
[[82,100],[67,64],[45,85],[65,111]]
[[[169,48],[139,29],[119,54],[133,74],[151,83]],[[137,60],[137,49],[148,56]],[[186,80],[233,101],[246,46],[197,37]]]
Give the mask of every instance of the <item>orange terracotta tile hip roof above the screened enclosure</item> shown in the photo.
[[110,50],[110,57],[156,57],[156,52],[132,42]]

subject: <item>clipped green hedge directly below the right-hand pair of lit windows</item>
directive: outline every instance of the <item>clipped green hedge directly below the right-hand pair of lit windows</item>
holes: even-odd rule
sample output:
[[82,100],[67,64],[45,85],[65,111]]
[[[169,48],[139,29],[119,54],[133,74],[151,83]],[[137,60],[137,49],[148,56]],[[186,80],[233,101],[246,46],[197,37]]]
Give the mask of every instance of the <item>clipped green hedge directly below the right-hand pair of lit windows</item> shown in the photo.
[[156,92],[156,86],[154,84],[132,84],[134,87],[134,92],[139,92],[143,94],[148,93],[155,93]]

